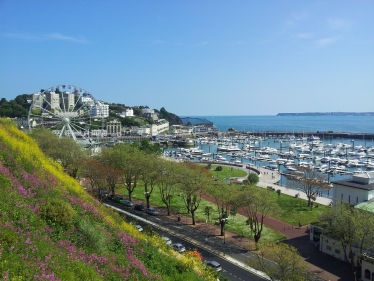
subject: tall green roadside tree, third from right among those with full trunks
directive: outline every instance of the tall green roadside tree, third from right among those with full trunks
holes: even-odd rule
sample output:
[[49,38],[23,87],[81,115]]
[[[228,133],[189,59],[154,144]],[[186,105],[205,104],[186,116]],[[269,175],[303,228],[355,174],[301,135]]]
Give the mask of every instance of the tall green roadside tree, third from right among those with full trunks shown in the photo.
[[195,225],[195,211],[201,202],[204,188],[209,184],[211,175],[204,167],[193,162],[182,162],[180,190],[187,212],[191,214],[192,224]]

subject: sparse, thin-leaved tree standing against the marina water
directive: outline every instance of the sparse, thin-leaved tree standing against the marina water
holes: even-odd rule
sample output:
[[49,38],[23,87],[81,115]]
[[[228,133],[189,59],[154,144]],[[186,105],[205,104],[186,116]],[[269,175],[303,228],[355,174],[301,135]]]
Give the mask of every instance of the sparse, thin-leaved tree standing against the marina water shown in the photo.
[[297,172],[287,176],[287,186],[302,190],[308,198],[308,206],[313,207],[312,200],[323,190],[332,186],[325,180],[324,175],[311,167],[297,167]]

